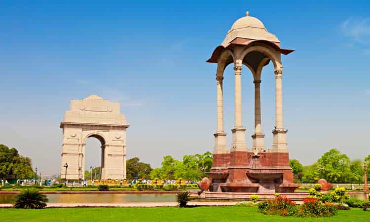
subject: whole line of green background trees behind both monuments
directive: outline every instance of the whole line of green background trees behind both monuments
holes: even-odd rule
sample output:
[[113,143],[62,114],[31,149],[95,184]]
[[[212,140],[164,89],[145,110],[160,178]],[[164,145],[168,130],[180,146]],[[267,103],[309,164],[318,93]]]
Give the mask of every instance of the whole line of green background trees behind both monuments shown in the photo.
[[[141,162],[138,157],[126,162],[127,179],[162,179],[162,180],[201,180],[206,177],[212,167],[212,153],[184,155],[182,160],[167,155],[163,157],[161,166],[152,168],[149,163]],[[293,170],[296,183],[316,183],[324,178],[329,183],[362,183],[364,181],[364,163],[370,168],[370,155],[364,160],[351,160],[337,149],[325,152],[315,163],[303,166],[298,160],[291,159],[289,164]],[[100,167],[85,171],[85,178],[100,178]],[[0,145],[0,179],[33,179],[31,158],[22,156],[16,148]],[[370,180],[370,169],[368,170]]]

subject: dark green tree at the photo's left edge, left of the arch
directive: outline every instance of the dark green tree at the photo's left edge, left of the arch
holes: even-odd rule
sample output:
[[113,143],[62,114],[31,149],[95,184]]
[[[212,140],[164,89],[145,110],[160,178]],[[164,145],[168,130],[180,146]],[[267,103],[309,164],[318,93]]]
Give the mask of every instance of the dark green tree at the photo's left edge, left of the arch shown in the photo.
[[32,170],[32,162],[29,157],[18,153],[16,148],[8,148],[0,145],[0,178],[5,180],[10,175],[17,179],[33,178],[35,173]]

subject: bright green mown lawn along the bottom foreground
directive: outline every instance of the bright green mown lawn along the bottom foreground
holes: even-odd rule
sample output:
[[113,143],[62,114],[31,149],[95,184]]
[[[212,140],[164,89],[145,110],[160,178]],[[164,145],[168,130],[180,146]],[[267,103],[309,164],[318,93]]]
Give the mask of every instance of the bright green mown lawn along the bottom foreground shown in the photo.
[[327,218],[294,218],[262,215],[256,207],[156,207],[156,208],[54,208],[43,210],[0,209],[0,221],[87,222],[87,221],[271,221],[271,222],[362,222],[370,221],[370,211],[351,209]]

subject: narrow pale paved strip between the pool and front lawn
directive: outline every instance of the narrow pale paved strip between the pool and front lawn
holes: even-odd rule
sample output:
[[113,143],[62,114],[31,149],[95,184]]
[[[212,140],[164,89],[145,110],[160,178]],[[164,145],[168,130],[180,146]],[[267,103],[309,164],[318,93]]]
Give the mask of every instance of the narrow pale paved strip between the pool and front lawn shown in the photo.
[[[233,206],[237,201],[189,202],[189,206]],[[176,207],[177,202],[137,202],[137,203],[48,203],[47,208],[67,207]],[[0,204],[0,208],[11,208],[11,204]]]

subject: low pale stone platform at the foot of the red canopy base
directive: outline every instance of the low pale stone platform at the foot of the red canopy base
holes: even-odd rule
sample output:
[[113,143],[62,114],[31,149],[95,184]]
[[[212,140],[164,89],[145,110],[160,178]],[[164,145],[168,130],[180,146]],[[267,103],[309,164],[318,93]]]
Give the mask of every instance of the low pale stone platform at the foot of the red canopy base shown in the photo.
[[[275,193],[248,193],[248,192],[210,192],[203,191],[199,194],[196,191],[190,191],[191,197],[205,198],[205,199],[220,199],[220,200],[250,200],[251,195],[259,195],[259,199],[274,199]],[[291,193],[280,193],[281,196],[300,201],[308,196],[308,192],[291,192]]]

